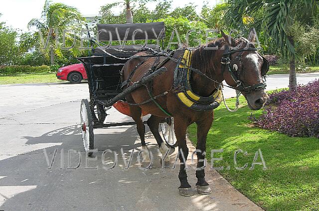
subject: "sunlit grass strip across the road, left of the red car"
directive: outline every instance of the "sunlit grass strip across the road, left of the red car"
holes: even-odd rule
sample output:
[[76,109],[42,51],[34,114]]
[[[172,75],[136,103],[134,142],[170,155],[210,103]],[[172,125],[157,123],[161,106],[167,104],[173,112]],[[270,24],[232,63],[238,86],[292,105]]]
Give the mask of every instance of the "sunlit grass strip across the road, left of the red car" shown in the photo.
[[16,76],[0,76],[0,84],[52,83],[61,82],[55,74],[21,74]]

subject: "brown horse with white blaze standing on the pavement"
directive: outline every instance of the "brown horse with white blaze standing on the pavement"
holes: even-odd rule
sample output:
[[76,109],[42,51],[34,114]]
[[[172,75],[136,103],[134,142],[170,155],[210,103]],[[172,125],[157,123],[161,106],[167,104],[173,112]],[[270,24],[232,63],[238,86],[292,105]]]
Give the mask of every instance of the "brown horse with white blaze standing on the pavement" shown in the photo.
[[[226,83],[238,89],[238,82],[242,82],[244,89],[240,90],[243,96],[246,98],[249,107],[252,110],[260,109],[267,101],[268,96],[264,91],[264,87],[260,88],[260,84],[263,84],[263,57],[256,51],[249,41],[253,42],[255,38],[251,36],[248,41],[245,38],[233,39],[230,36],[222,32],[222,38],[209,43],[208,47],[218,47],[219,50],[205,50],[204,46],[201,46],[193,51],[190,60],[190,66],[194,69],[200,70],[203,74],[208,76],[210,79],[203,77],[198,72],[191,74],[190,83],[193,92],[202,97],[210,96],[224,80]],[[250,50],[245,50],[246,45],[250,45]],[[233,65],[237,65],[236,71],[238,80],[235,80],[231,71],[222,70],[222,57],[225,57],[225,50],[229,47],[237,47],[237,51],[229,53],[229,59],[231,61],[231,68]],[[145,52],[140,52],[136,55],[145,55]],[[183,56],[183,49],[178,49],[174,52],[173,58],[180,59]],[[238,59],[239,58],[239,59]],[[149,69],[160,61],[163,61],[165,57],[160,58],[132,58],[130,59],[123,69],[123,80],[130,79],[130,84],[139,81]],[[201,168],[204,165],[205,151],[206,151],[206,137],[207,133],[212,125],[214,113],[213,110],[198,111],[193,110],[185,106],[177,97],[176,93],[173,92],[173,79],[174,69],[176,67],[176,60],[165,61],[162,67],[166,67],[167,71],[162,75],[156,77],[153,80],[153,84],[149,86],[152,89],[153,96],[161,95],[167,92],[166,95],[156,99],[156,102],[166,110],[174,118],[174,131],[177,138],[177,145],[179,149],[179,160],[181,162],[179,169],[179,194],[182,196],[192,196],[191,186],[187,182],[187,174],[185,170],[185,164],[183,163],[183,157],[187,159],[188,148],[186,145],[186,129],[192,124],[197,124],[197,145],[196,149],[199,152],[197,154],[197,167]],[[131,72],[134,71],[132,74]],[[237,82],[237,83],[236,83]],[[130,84],[128,86],[130,86]],[[256,86],[258,85],[258,86]],[[152,87],[152,88],[151,88]],[[257,88],[257,89],[256,89]],[[146,87],[139,88],[127,96],[128,103],[140,104],[150,99],[149,92]],[[142,110],[151,113],[151,117],[148,119],[148,125],[150,130],[154,134],[160,152],[165,154],[168,149],[159,133],[159,123],[162,119],[168,117],[159,106],[153,101],[139,105],[130,106],[132,118],[137,123],[137,130],[141,137],[142,148],[146,148],[145,143],[145,126],[142,121]],[[148,161],[149,157],[147,153],[142,153],[144,161]],[[165,159],[168,161],[169,157]],[[211,190],[208,183],[205,181],[204,169],[196,170],[196,188],[200,194],[210,194]]]

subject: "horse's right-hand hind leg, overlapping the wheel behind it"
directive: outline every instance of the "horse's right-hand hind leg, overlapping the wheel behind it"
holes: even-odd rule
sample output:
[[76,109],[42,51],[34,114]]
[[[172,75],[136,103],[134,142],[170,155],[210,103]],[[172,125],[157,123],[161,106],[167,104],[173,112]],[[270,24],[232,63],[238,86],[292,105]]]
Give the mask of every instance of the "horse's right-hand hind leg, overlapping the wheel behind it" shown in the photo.
[[[159,145],[160,153],[162,154],[161,162],[164,160],[164,166],[169,167],[169,160],[170,160],[169,155],[171,153],[173,153],[174,150],[169,149],[165,145],[165,143],[163,142],[163,139],[160,136],[159,124],[160,124],[160,121],[162,119],[164,119],[164,117],[151,115],[151,117],[148,119],[148,125],[149,125],[150,130],[153,133],[158,145]],[[166,155],[166,157],[165,157],[165,155]]]

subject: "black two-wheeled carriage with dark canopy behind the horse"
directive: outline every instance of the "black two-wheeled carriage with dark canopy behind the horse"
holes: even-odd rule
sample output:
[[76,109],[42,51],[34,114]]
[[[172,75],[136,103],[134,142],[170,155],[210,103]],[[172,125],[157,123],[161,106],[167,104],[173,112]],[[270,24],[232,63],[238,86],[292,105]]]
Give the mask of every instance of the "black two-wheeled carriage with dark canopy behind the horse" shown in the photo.
[[[95,43],[96,48],[91,49],[92,56],[78,58],[84,64],[90,92],[90,99],[81,102],[81,131],[86,153],[92,155],[94,149],[94,128],[106,128],[123,125],[134,125],[132,122],[106,122],[107,110],[114,106],[118,111],[130,115],[130,109],[125,101],[125,96],[148,83],[154,77],[165,72],[161,68],[149,74],[143,80],[130,86],[125,91],[122,85],[122,68],[125,63],[134,58],[134,55],[146,49],[149,52],[161,52],[163,37],[165,35],[163,22],[132,23],[132,24],[98,24],[97,39],[90,38],[91,45]],[[89,35],[90,36],[90,35]],[[125,41],[133,43],[135,40],[145,40],[141,45],[106,45],[103,41]],[[153,41],[157,44],[147,44]],[[152,56],[152,55],[150,55]],[[143,113],[147,115],[147,113]],[[106,122],[106,123],[105,123]],[[164,119],[159,125],[160,134],[165,142],[173,147],[176,142],[173,129],[172,117]]]

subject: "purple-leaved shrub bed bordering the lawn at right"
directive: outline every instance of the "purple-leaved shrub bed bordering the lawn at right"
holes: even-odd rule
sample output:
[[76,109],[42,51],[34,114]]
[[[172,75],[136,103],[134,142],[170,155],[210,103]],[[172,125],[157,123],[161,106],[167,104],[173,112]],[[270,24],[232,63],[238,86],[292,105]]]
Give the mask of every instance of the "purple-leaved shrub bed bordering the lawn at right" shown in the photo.
[[274,92],[258,126],[290,136],[319,138],[319,80],[296,91]]

